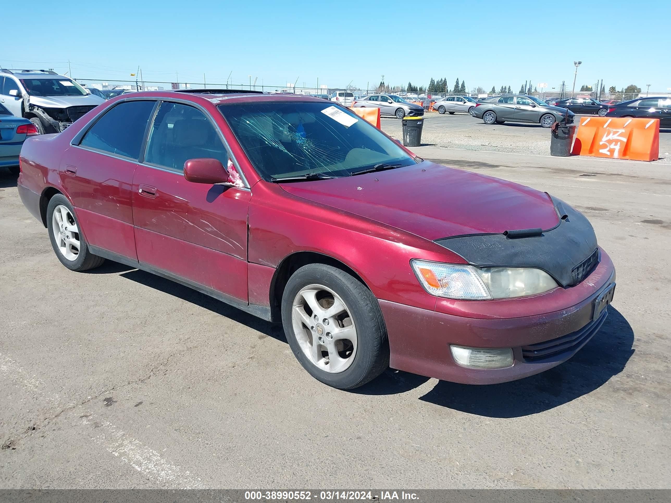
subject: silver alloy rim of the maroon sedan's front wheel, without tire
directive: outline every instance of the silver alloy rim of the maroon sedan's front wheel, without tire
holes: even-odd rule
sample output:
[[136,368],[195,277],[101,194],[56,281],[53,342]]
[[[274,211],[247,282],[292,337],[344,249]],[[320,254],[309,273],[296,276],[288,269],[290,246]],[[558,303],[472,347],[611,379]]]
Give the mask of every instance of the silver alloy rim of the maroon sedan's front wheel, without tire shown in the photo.
[[337,374],[352,365],[357,346],[354,319],[333,290],[319,284],[302,288],[293,301],[291,323],[301,350],[315,367]]

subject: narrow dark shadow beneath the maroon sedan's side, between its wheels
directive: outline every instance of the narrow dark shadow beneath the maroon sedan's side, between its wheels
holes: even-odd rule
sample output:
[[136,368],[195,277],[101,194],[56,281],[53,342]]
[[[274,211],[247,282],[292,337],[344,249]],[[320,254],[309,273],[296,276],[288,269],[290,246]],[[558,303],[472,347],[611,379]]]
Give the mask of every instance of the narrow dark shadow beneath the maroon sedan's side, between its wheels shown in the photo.
[[[107,262],[115,264],[109,260]],[[105,266],[103,265],[99,269],[102,269],[103,267]],[[110,265],[110,267],[112,266]],[[119,267],[124,268],[126,266],[119,264]],[[225,316],[233,321],[242,323],[242,325],[246,325],[264,335],[277,339],[278,341],[287,342],[285,332],[282,329],[282,325],[279,323],[270,323],[269,321],[262,320],[254,315],[245,313],[236,307],[229,306],[225,302],[221,302],[221,300],[217,300],[209,295],[201,294],[201,292],[197,292],[196,290],[193,290],[193,288],[161,278],[160,276],[156,276],[156,274],[144,272],[140,269],[128,269],[127,272],[123,272],[122,274],[119,274],[119,276],[181,298],[187,302],[191,302],[191,304],[196,304],[197,306],[209,309],[209,311],[217,313],[217,315]],[[108,272],[117,271],[109,270]]]

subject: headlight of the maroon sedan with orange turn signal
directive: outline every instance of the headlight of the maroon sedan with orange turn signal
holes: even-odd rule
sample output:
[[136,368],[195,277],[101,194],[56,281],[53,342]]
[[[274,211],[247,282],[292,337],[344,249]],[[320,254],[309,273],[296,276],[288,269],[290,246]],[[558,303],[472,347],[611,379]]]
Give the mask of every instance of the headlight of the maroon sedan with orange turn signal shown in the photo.
[[550,274],[535,268],[476,268],[425,260],[411,260],[411,265],[424,290],[439,297],[514,298],[548,292],[558,286]]

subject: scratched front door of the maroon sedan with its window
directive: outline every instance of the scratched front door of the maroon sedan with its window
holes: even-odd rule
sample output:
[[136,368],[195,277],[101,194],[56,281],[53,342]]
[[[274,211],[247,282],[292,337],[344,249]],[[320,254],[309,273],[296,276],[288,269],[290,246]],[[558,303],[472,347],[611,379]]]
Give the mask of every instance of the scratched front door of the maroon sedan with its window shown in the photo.
[[184,163],[214,158],[236,169],[204,109],[162,101],[133,179],[138,260],[210,294],[247,301],[248,188],[187,182]]

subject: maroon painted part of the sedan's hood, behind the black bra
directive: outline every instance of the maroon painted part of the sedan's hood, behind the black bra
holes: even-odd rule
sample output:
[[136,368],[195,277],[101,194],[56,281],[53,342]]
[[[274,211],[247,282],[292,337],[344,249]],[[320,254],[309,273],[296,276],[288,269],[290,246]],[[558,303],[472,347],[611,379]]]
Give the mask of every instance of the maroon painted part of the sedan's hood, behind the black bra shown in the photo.
[[297,197],[431,241],[464,234],[551,229],[559,223],[554,205],[544,192],[429,161],[281,186]]

